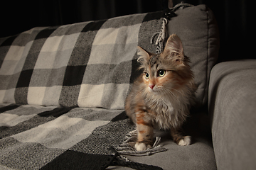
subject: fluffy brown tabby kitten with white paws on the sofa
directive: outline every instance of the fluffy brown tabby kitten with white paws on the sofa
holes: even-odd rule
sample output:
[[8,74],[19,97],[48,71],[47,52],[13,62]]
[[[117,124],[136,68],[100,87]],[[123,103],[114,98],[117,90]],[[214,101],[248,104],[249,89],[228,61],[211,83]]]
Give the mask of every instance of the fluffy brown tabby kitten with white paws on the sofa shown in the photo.
[[171,130],[176,144],[190,145],[191,137],[182,135],[181,126],[193,101],[193,72],[183,54],[181,39],[171,35],[159,55],[142,47],[137,49],[137,61],[144,73],[134,81],[125,101],[126,113],[137,125],[135,148],[139,151],[151,147],[154,128]]

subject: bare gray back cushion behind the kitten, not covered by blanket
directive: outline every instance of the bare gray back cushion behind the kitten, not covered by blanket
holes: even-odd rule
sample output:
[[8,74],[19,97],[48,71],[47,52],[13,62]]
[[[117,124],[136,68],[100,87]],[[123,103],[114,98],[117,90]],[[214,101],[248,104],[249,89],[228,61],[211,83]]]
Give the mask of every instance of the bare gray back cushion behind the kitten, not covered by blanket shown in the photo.
[[169,34],[176,33],[183,42],[185,55],[198,86],[196,102],[206,104],[210,69],[218,59],[219,35],[213,12],[206,5],[179,8],[168,24]]

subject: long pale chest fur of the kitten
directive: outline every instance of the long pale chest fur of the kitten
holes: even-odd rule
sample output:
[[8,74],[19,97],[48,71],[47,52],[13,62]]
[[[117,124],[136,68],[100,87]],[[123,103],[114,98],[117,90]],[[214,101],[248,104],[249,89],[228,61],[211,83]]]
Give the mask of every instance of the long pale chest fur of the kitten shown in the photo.
[[154,118],[156,128],[170,129],[179,126],[188,115],[188,99],[184,96],[158,96],[148,94],[144,98],[146,108]]

